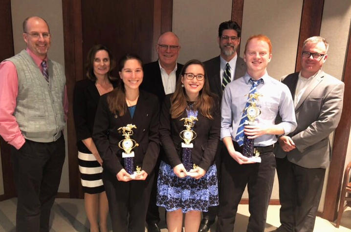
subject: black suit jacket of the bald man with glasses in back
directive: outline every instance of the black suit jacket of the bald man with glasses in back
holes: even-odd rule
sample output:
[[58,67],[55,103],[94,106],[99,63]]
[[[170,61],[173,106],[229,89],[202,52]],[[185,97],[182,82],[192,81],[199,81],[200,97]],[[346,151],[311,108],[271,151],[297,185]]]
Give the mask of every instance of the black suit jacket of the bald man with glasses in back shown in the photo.
[[[178,80],[183,64],[177,63],[177,70],[175,71],[175,78]],[[158,97],[160,104],[162,104],[166,94],[162,84],[161,70],[158,61],[147,63],[143,66],[144,78],[140,88],[153,93]]]

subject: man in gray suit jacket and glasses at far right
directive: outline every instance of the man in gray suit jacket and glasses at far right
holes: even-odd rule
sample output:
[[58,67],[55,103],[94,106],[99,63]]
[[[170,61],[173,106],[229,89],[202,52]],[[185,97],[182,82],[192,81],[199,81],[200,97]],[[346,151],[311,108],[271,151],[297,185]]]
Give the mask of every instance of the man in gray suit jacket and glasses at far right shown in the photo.
[[328,42],[308,38],[303,44],[302,70],[283,79],[292,94],[296,129],[280,136],[275,146],[279,179],[280,232],[312,232],[331,150],[329,134],[337,127],[344,83],[322,70]]

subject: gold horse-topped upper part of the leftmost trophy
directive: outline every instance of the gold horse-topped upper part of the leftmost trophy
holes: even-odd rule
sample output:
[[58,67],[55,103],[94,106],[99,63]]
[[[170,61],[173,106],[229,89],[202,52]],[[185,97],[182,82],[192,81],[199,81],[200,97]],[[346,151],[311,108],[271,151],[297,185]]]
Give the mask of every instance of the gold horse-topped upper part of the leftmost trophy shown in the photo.
[[131,139],[133,128],[136,129],[136,126],[133,124],[127,124],[126,127],[118,128],[119,132],[122,130],[122,136],[124,136],[124,139],[118,143],[118,147],[124,150],[124,152],[122,152],[122,158],[134,157],[134,151],[132,151],[132,149],[139,146],[135,140]]

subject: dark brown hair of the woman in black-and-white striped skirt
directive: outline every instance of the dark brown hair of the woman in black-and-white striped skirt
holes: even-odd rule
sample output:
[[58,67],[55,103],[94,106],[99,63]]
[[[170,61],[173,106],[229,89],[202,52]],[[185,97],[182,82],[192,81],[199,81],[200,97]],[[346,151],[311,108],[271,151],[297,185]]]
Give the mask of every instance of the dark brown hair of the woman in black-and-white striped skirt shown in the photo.
[[102,44],[96,44],[94,46],[92,46],[90,48],[90,50],[88,51],[88,56],[87,56],[87,61],[85,63],[85,67],[87,70],[87,77],[90,81],[95,82],[96,81],[96,77],[94,74],[94,59],[95,59],[95,55],[98,51],[104,50],[109,54],[109,58],[110,58],[110,70],[108,72],[108,77],[110,81],[115,81],[116,78],[111,76],[112,70],[115,68],[116,66],[116,62],[113,58],[112,52],[109,50],[109,48],[107,48],[107,46],[102,45]]

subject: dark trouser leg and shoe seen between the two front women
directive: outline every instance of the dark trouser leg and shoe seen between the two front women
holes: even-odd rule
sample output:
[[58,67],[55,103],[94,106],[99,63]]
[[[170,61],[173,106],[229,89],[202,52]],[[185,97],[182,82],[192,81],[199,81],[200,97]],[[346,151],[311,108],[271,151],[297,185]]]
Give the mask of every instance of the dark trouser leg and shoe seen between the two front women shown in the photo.
[[148,211],[146,213],[146,223],[153,224],[160,222],[160,213],[158,211],[158,206],[156,206],[156,196],[157,196],[157,177],[158,170],[160,169],[161,159],[158,157],[157,163],[154,168],[154,184],[151,190],[150,202],[148,206]]

